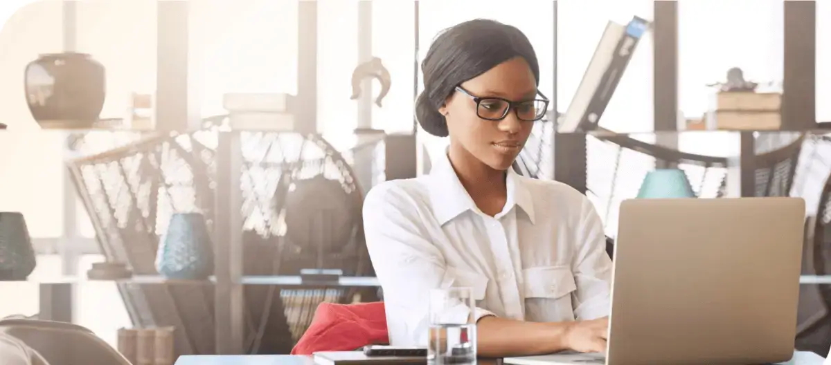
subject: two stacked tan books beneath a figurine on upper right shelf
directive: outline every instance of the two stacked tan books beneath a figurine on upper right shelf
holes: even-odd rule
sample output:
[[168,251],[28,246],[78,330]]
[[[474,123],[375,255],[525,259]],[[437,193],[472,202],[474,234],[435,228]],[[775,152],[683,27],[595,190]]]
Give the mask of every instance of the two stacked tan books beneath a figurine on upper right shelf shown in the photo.
[[782,95],[776,92],[720,91],[712,95],[706,114],[709,130],[777,130]]

